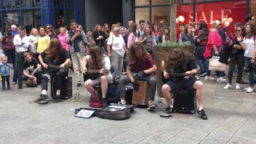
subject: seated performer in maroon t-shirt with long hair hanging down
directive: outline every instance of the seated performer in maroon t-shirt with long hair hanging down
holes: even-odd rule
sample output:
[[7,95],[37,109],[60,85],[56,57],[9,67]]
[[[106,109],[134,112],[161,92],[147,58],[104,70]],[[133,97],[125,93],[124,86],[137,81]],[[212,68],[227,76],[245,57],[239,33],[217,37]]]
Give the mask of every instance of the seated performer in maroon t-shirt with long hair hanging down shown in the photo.
[[[134,72],[131,73],[131,66],[134,67]],[[131,82],[134,86],[134,90],[138,91],[138,80],[146,81],[150,84],[150,101],[148,103],[148,110],[154,110],[156,108],[154,104],[154,94],[156,91],[157,80],[154,75],[154,71],[157,67],[154,64],[153,58],[142,46],[142,44],[135,42],[130,46],[130,51],[127,59],[127,76],[119,79],[119,91],[121,103],[126,104],[126,84]]]

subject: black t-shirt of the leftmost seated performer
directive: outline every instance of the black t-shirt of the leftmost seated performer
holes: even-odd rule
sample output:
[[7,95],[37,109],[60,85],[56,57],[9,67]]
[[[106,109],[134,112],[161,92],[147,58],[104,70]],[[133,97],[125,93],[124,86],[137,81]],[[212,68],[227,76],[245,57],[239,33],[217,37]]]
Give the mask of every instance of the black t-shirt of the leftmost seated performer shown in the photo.
[[62,55],[60,58],[58,58],[58,61],[55,61],[54,58],[47,58],[48,62],[46,62],[46,53],[45,51],[42,52],[41,54],[43,62],[45,62],[46,64],[50,64],[50,65],[55,65],[55,66],[61,66],[62,63],[66,62],[67,58],[70,58],[69,54],[66,52],[66,50],[62,50]]

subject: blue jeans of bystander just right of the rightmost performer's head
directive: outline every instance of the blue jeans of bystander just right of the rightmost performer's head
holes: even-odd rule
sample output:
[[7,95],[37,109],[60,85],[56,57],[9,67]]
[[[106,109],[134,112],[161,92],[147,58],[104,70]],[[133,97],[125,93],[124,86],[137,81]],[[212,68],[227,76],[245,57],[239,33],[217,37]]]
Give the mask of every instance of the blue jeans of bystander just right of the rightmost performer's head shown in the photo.
[[195,60],[198,62],[198,65],[200,66],[201,71],[208,71],[208,61],[206,58],[203,57],[203,54],[206,52],[206,48],[198,48],[198,50],[195,53]]

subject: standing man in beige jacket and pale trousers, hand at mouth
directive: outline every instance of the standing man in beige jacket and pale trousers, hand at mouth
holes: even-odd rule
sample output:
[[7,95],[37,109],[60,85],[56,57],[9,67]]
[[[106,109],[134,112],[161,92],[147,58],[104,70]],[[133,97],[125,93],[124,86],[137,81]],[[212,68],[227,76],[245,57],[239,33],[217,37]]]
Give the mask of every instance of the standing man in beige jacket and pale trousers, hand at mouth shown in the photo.
[[74,74],[77,78],[77,86],[81,86],[82,71],[85,67],[87,38],[86,34],[82,30],[78,29],[77,22],[72,19],[70,21],[70,29],[67,33],[66,43],[70,45],[70,55],[74,66]]

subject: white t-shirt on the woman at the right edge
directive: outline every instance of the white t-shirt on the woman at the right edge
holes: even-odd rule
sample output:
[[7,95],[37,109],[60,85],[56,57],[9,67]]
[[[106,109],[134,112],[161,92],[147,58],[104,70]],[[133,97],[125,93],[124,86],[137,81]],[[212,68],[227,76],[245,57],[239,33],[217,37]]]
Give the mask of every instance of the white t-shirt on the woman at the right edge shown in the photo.
[[254,39],[254,37],[252,38],[243,38],[242,41],[243,44],[246,44],[246,51],[244,56],[247,58],[252,58],[253,54],[254,54],[254,46],[256,43],[256,39]]

